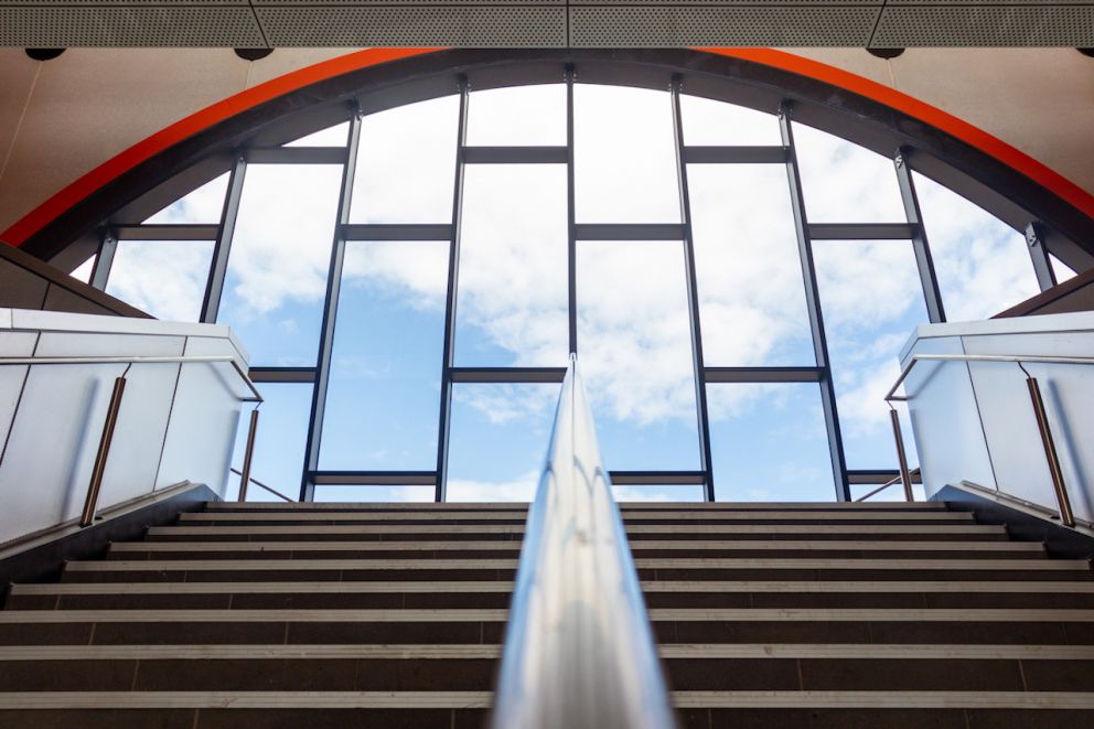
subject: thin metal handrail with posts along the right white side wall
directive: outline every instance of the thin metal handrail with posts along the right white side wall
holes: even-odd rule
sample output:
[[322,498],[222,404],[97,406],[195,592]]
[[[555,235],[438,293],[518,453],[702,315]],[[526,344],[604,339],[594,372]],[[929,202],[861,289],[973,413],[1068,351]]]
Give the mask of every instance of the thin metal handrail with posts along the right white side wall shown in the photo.
[[[900,371],[900,377],[889,388],[886,394],[886,403],[892,408],[893,403],[908,401],[907,395],[897,395],[897,390],[908,378],[912,368],[919,362],[1009,362],[1017,364],[1026,375],[1026,385],[1029,390],[1030,405],[1033,408],[1033,417],[1037,419],[1037,430],[1041,436],[1041,446],[1044,448],[1044,460],[1049,468],[1049,476],[1052,479],[1052,490],[1055,492],[1057,505],[1059,507],[1060,523],[1064,526],[1075,526],[1075,514],[1071,507],[1071,496],[1068,494],[1068,486],[1063,481],[1063,470],[1060,468],[1060,457],[1057,454],[1055,441],[1052,438],[1052,430],[1049,428],[1049,418],[1044,409],[1044,399],[1041,397],[1041,387],[1037,377],[1026,369],[1027,364],[1079,364],[1094,365],[1094,357],[1069,357],[1069,356],[1023,356],[1018,354],[913,354],[912,358]],[[900,454],[900,475],[907,484],[911,483],[908,472],[908,464],[904,462],[904,439],[900,432],[900,419],[897,410],[892,410],[893,438],[897,442],[897,451]],[[909,501],[911,501],[909,498]]]

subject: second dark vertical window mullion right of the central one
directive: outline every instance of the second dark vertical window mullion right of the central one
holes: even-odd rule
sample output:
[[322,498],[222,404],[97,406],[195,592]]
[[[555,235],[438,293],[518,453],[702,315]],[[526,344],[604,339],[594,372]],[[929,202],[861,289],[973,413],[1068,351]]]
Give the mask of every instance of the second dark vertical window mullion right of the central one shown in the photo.
[[786,179],[790,184],[791,205],[794,211],[798,253],[802,257],[802,278],[805,283],[809,326],[813,330],[813,349],[816,353],[817,366],[820,368],[820,404],[824,407],[825,427],[828,431],[828,452],[832,457],[832,473],[836,482],[836,497],[839,501],[850,501],[847,460],[844,458],[844,442],[839,431],[839,414],[836,408],[836,394],[832,380],[832,365],[828,361],[824,317],[820,313],[816,268],[813,264],[813,242],[809,238],[809,223],[805,214],[805,199],[802,194],[802,178],[797,169],[797,149],[794,147],[791,109],[790,101],[783,101],[779,107],[779,129],[782,133],[783,147],[786,148]]

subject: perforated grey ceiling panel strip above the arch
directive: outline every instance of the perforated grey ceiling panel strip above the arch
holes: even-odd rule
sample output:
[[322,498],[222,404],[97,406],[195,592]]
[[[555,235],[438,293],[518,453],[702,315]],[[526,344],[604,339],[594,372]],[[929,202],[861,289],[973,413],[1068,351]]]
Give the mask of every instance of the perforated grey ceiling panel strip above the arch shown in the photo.
[[1094,0],[0,0],[13,46],[1094,46]]

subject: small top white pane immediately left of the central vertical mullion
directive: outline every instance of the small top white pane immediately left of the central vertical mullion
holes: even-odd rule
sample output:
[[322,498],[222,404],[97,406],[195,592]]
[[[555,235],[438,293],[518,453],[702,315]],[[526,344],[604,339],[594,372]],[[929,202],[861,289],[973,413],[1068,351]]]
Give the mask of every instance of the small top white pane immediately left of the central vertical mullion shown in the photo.
[[468,95],[468,144],[566,146],[566,86],[511,86]]

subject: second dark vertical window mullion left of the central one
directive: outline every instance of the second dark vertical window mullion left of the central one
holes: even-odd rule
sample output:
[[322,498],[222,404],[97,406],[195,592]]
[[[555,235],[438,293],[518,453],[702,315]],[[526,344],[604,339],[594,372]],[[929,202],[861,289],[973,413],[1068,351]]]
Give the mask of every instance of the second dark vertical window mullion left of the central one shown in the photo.
[[312,472],[319,470],[319,449],[323,437],[323,412],[326,408],[326,388],[331,379],[331,353],[334,346],[334,326],[337,319],[339,293],[342,289],[342,265],[345,261],[345,226],[350,222],[353,202],[353,179],[357,170],[357,150],[361,147],[361,112],[355,110],[350,120],[348,144],[342,168],[342,190],[331,246],[331,265],[326,274],[326,298],[323,301],[323,323],[319,333],[319,352],[315,356],[315,384],[311,395],[311,415],[308,419],[308,440],[304,443],[303,472],[300,476],[300,501],[313,501],[315,484]]

